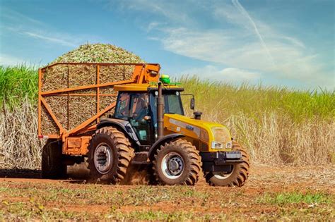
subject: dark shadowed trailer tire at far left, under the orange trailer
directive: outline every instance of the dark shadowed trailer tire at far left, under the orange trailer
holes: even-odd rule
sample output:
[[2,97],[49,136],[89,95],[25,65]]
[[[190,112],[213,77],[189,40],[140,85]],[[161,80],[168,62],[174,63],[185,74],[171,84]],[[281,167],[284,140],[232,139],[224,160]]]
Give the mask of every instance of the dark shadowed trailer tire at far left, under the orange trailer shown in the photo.
[[66,165],[63,164],[61,142],[47,140],[42,149],[42,178],[59,179],[66,177]]

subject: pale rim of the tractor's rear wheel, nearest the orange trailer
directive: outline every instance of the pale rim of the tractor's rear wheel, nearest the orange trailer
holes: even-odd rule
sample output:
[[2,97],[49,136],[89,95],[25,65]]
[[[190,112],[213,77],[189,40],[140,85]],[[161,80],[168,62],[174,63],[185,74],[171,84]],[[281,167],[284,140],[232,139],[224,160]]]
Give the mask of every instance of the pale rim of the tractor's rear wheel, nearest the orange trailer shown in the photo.
[[106,174],[112,168],[112,150],[105,143],[100,143],[94,151],[94,166],[101,174]]

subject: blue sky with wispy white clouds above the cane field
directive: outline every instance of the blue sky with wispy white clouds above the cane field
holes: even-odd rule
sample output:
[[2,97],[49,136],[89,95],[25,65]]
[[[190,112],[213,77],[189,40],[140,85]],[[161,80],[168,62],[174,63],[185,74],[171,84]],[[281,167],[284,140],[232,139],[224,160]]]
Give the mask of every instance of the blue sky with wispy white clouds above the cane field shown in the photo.
[[334,1],[0,2],[3,65],[102,42],[172,76],[334,89]]

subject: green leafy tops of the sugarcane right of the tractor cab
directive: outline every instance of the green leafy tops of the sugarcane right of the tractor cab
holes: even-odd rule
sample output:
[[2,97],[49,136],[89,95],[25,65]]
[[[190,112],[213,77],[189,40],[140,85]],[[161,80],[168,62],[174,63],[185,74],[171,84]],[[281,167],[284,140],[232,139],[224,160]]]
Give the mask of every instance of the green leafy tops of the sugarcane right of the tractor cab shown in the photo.
[[274,112],[288,115],[295,122],[306,119],[331,120],[335,117],[334,91],[229,85],[196,77],[183,77],[179,81],[186,92],[194,93],[197,109],[204,113],[215,110],[223,118],[237,113],[258,118],[264,113]]

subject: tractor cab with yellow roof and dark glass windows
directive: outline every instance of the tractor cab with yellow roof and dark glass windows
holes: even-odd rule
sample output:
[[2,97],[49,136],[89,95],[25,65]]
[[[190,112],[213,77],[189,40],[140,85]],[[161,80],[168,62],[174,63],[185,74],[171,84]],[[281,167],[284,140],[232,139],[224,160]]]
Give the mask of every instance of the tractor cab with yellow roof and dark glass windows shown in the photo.
[[[129,84],[115,86],[119,91],[114,118],[128,121],[141,146],[151,146],[158,140],[157,97],[158,86]],[[175,85],[163,87],[163,113],[184,116],[180,93],[183,88]]]

